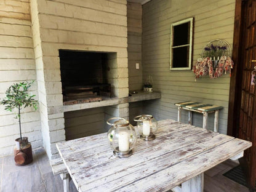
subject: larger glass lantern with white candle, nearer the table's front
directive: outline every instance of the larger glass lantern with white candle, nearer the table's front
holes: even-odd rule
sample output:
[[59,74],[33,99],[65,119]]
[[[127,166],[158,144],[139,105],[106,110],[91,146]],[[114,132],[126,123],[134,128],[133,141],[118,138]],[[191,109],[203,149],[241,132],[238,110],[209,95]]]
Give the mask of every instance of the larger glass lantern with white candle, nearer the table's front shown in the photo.
[[137,142],[134,127],[124,118],[110,118],[106,123],[111,126],[108,130],[108,140],[114,150],[114,155],[119,158],[127,158],[132,155],[132,148]]

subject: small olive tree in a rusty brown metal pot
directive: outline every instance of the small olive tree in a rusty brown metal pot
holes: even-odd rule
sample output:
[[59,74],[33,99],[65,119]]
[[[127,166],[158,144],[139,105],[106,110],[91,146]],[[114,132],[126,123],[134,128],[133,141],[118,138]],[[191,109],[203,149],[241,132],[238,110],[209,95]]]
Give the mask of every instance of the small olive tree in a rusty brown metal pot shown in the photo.
[[28,137],[22,137],[22,127],[20,122],[20,110],[28,106],[33,106],[34,110],[38,108],[38,101],[34,99],[36,95],[28,95],[28,89],[32,82],[19,82],[12,84],[6,90],[6,98],[0,102],[4,105],[4,110],[15,111],[15,118],[18,119],[20,126],[20,138],[15,139],[16,146],[14,148],[14,160],[17,166],[23,166],[33,161],[31,143],[28,142]]

